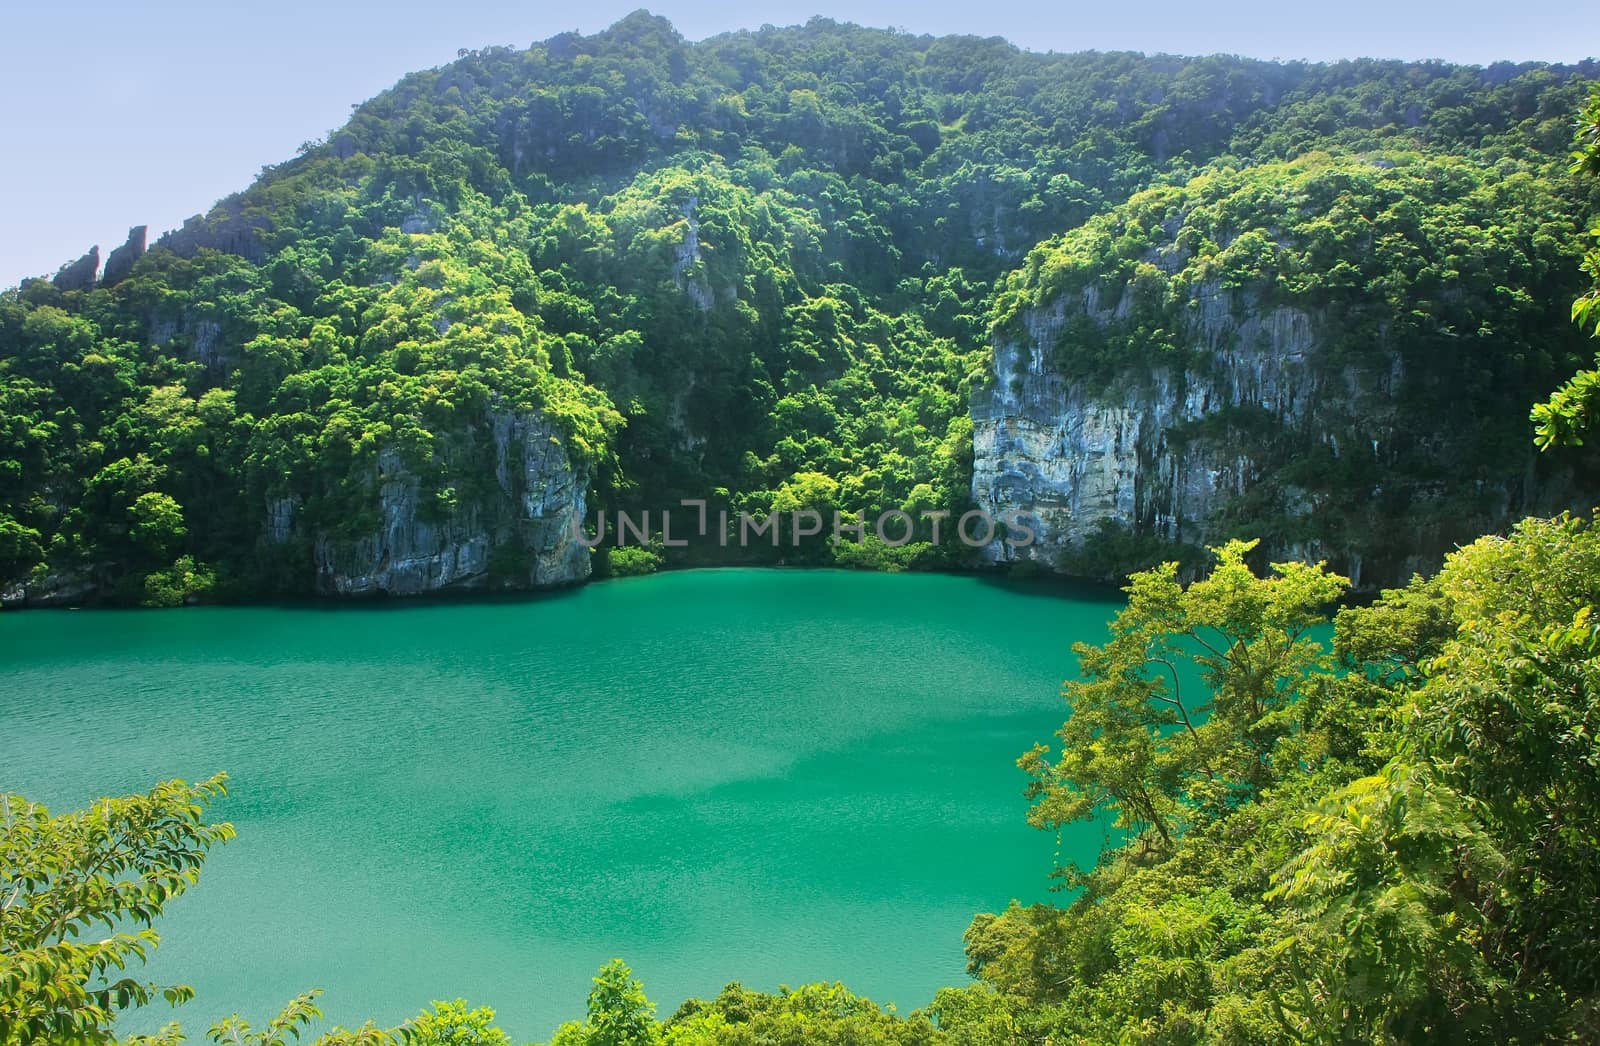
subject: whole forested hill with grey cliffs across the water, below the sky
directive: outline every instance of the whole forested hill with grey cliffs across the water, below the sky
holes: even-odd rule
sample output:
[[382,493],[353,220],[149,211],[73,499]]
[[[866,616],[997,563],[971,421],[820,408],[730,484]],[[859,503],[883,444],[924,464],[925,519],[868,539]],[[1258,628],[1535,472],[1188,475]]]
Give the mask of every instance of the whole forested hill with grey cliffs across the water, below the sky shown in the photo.
[[[565,584],[573,515],[682,497],[1018,509],[1086,574],[1259,534],[1403,581],[1581,501],[1526,409],[1582,361],[1595,72],[645,13],[464,53],[149,251],[0,296],[5,598]],[[1275,315],[1290,341],[1240,334]],[[1277,349],[1304,374],[1240,384]],[[1074,443],[1107,395],[1128,461]],[[1051,523],[1090,462],[1101,501]],[[674,553],[974,560],[917,539]]]

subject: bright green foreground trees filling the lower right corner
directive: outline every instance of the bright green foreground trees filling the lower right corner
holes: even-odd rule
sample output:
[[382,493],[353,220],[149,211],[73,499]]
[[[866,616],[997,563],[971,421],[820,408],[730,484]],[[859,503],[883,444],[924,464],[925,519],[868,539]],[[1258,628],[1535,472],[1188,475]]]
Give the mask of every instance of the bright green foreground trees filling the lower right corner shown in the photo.
[[[1330,579],[1301,568],[1280,616],[1262,598],[1272,582],[1224,557],[1224,579],[1197,598],[1198,617],[1206,627],[1277,622],[1261,632],[1274,641],[1256,649],[1283,654],[1272,664],[1290,669],[1280,675],[1290,685],[1256,691],[1283,697],[1266,734],[1251,737],[1248,717],[1224,713],[1222,691],[1197,731],[1245,725],[1234,752],[1246,758],[1234,766],[1250,766],[1258,742],[1275,737],[1270,774],[1234,804],[1208,809],[1194,788],[1173,795],[1160,844],[1149,819],[1125,819],[1122,844],[1075,878],[1082,892],[1064,908],[1013,905],[974,920],[971,969],[994,985],[1019,1040],[1594,1038],[1597,534],[1587,520],[1528,520],[1510,537],[1456,552],[1437,579],[1339,611],[1338,673],[1309,648],[1290,654],[1277,635],[1317,622],[1317,601],[1291,593]],[[1166,574],[1136,576],[1112,641],[1083,654],[1086,667],[1123,669],[1125,721],[1141,701],[1165,705],[1152,680],[1170,677],[1166,651],[1154,646],[1144,672],[1109,662],[1107,651],[1128,643],[1131,621],[1194,614],[1190,593],[1210,584],[1163,595],[1176,592]],[[1136,648],[1125,651],[1130,665],[1138,659]],[[1107,718],[1117,697],[1107,689],[1078,691],[1072,720]],[[1163,723],[1154,734],[1139,723],[1144,750],[1179,773],[1147,773],[1152,792],[1189,771],[1170,744],[1189,731],[1171,715]],[[1093,733],[1074,736],[1099,744]],[[1104,790],[1104,766],[1064,755],[1050,768],[1045,803],[1059,795],[1088,809],[1083,796]]]

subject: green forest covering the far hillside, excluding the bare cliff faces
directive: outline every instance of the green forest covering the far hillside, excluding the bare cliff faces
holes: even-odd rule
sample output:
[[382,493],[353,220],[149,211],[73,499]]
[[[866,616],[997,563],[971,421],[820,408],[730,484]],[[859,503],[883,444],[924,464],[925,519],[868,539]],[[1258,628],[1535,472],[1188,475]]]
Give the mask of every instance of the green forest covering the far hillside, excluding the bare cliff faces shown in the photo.
[[[1029,54],[824,19],[691,45],[645,13],[474,51],[109,285],[0,294],[0,579],[309,590],[315,541],[371,526],[381,451],[467,520],[472,433],[525,409],[608,509],[958,513],[990,328],[1123,277],[1138,315],[1072,358],[1181,349],[1168,312],[1197,280],[1323,302],[1342,350],[1427,376],[1402,405],[1419,457],[1371,481],[1470,497],[1525,445],[1523,390],[1579,363],[1550,304],[1595,210],[1563,163],[1592,72]],[[1434,409],[1453,392],[1472,411]],[[962,552],[915,537],[848,557]]]

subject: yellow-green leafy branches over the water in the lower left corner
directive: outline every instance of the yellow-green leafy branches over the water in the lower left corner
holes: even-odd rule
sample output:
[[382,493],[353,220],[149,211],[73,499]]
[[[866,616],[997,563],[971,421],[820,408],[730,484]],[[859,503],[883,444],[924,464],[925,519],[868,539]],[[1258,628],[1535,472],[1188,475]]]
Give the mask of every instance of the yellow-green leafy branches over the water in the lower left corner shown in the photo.
[[206,851],[234,838],[205,819],[224,781],[170,781],[59,816],[0,795],[0,1043],[115,1043],[118,1012],[192,995],[128,968],[160,944],[150,923],[200,878]]

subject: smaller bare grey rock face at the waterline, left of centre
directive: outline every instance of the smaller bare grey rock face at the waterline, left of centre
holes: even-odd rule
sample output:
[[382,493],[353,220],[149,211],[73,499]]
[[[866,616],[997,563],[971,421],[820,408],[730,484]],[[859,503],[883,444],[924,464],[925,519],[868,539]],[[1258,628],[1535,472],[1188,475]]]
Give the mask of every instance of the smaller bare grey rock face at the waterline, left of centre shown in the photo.
[[[371,481],[376,520],[358,534],[302,533],[301,502],[267,504],[269,542],[296,536],[312,545],[315,585],[325,595],[419,595],[472,589],[542,589],[589,577],[589,549],[574,520],[586,510],[589,473],[576,467],[554,425],[536,413],[496,413],[445,462],[440,504],[403,457],[386,449]],[[474,475],[482,453],[493,475]]]

